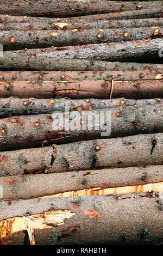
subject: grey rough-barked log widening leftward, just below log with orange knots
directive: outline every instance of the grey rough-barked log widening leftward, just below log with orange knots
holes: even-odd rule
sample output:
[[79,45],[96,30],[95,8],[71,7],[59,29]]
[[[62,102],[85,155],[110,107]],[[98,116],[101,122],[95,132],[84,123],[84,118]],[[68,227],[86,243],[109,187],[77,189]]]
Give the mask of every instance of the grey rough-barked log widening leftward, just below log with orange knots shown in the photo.
[[[83,46],[7,51],[4,52],[3,57],[0,57],[0,68],[2,66],[2,69],[4,69],[7,66],[9,69],[10,66],[13,68],[14,65],[17,65],[17,68],[20,66],[26,66],[26,69],[29,69],[30,65],[34,65],[34,63],[38,61],[40,69],[45,69],[46,58],[51,59],[51,62],[53,62],[53,59],[55,59],[55,61],[57,59],[61,59],[61,62],[66,61],[67,67],[68,63],[65,59],[82,59],[83,62],[85,59],[107,60],[109,62],[143,62],[145,61],[144,56],[146,55],[146,62],[152,60],[161,62],[159,52],[161,51],[162,47],[162,39],[153,39],[128,41],[123,43],[112,42],[110,44],[102,43]],[[43,67],[41,65],[42,61],[45,62]],[[51,68],[49,68],[49,70],[51,70]]]

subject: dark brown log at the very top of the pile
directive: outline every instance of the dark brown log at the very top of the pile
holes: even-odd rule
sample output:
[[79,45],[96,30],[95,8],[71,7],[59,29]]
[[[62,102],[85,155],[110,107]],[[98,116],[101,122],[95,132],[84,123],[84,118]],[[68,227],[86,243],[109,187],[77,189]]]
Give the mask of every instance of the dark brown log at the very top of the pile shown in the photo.
[[112,2],[112,1],[0,1],[0,13],[49,17],[69,17],[88,14],[112,13],[134,9],[162,7],[162,2]]

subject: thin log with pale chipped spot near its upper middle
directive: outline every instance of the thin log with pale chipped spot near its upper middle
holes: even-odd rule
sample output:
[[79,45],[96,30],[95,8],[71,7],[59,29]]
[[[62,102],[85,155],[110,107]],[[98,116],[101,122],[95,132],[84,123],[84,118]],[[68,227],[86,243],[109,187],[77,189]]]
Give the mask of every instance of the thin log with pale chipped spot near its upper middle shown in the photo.
[[[1,15],[0,15],[1,17]],[[42,20],[40,20],[42,19]],[[0,31],[33,31],[33,30],[61,30],[61,29],[109,29],[109,28],[142,28],[162,27],[162,18],[136,19],[136,20],[100,20],[100,21],[56,21],[55,19],[36,18],[29,22],[0,23]]]

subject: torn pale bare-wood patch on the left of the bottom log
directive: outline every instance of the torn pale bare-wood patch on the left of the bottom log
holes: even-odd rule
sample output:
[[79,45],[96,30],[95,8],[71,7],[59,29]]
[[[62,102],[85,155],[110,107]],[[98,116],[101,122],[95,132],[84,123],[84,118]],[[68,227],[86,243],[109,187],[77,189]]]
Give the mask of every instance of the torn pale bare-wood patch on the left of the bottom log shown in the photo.
[[34,229],[64,225],[65,220],[72,218],[75,214],[70,210],[51,210],[43,214],[8,218],[0,222],[0,240],[16,232],[27,230],[30,245],[35,245]]

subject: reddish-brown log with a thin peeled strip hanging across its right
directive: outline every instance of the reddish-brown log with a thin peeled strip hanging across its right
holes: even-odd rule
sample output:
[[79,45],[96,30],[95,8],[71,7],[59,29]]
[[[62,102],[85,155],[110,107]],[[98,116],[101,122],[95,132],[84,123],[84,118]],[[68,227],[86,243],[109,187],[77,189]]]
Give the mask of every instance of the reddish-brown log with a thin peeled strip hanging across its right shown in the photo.
[[158,80],[71,80],[71,81],[1,81],[0,97],[68,97],[70,99],[163,98],[163,83]]

